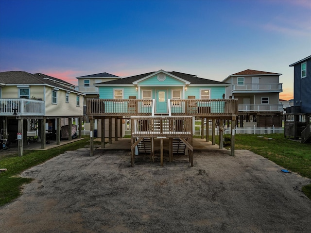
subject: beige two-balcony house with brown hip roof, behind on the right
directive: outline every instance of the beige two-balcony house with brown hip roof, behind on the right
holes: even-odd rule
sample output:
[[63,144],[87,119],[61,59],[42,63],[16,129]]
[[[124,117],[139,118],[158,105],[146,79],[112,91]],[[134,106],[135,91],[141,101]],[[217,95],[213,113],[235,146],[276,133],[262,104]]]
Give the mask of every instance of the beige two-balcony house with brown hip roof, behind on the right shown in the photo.
[[239,100],[239,122],[253,122],[257,127],[281,127],[283,106],[279,103],[282,74],[247,69],[229,75],[225,96]]

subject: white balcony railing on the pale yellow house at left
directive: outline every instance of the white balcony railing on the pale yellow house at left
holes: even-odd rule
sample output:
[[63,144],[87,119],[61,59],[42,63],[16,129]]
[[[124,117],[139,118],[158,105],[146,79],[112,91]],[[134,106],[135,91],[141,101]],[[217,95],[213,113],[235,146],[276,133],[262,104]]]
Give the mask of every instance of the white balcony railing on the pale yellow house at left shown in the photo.
[[44,101],[0,99],[0,116],[44,116]]

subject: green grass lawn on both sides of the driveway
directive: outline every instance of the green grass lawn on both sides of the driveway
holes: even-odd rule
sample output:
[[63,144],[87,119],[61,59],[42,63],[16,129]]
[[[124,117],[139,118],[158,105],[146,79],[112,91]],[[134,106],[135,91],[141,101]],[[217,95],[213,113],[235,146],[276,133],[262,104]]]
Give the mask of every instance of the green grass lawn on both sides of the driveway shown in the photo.
[[[253,151],[279,166],[296,172],[301,176],[311,179],[311,144],[301,144],[284,138],[284,134],[260,135],[236,134],[235,149]],[[226,135],[225,135],[226,137]],[[201,137],[200,137],[201,138]],[[271,140],[268,138],[272,138]],[[219,144],[219,137],[216,137],[216,144]],[[211,140],[211,137],[210,137]],[[99,143],[100,142],[94,142]],[[17,154],[0,158],[0,168],[7,168],[6,172],[0,173],[0,205],[4,205],[20,195],[21,186],[32,180],[17,177],[22,171],[44,163],[45,161],[64,153],[68,150],[77,150],[89,145],[89,137],[84,136],[83,140],[66,144],[50,150],[24,151],[22,157]],[[230,146],[225,146],[230,148]],[[304,193],[311,199],[311,184],[303,187]]]

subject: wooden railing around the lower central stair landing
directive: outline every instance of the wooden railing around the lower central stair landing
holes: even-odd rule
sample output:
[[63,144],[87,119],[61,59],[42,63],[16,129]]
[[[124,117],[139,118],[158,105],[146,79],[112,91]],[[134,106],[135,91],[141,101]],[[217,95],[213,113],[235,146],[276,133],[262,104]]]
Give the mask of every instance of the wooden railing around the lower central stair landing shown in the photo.
[[192,137],[192,116],[131,116],[132,137]]

